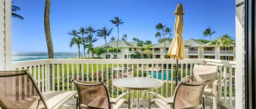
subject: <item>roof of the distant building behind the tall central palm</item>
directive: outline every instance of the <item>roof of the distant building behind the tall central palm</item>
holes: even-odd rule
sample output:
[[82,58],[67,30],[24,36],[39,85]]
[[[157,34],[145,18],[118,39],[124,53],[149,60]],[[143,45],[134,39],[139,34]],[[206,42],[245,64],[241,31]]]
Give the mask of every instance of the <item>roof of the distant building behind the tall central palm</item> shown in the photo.
[[[134,44],[135,42],[126,42],[123,40],[118,41],[118,48],[136,48],[136,44]],[[106,43],[107,46],[109,47],[117,47],[117,41],[110,41],[108,43]],[[98,46],[98,47],[105,47],[105,43],[102,44],[102,46]]]

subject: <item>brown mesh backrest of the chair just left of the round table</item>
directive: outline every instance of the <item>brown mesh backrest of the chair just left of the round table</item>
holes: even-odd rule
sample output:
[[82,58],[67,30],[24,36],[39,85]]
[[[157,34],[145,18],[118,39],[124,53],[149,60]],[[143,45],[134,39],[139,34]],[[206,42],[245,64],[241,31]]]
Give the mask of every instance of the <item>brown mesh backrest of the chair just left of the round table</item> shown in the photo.
[[103,82],[71,81],[78,90],[80,104],[90,108],[111,108],[109,92]]

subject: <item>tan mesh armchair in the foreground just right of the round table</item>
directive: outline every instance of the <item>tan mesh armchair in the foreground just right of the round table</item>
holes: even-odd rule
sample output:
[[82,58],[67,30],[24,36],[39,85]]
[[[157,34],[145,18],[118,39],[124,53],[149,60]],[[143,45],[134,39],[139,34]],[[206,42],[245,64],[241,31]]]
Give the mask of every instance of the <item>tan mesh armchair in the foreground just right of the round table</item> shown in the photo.
[[[165,98],[160,94],[148,92],[148,109],[156,104],[161,109],[204,109],[203,91],[211,80],[181,82],[175,89],[174,97]],[[151,96],[157,99],[151,99]]]

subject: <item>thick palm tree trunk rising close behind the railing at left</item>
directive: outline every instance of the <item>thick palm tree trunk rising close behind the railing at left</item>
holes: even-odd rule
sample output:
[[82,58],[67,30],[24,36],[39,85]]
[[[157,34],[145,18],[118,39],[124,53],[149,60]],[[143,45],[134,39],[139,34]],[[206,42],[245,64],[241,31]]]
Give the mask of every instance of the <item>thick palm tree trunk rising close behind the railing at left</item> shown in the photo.
[[[50,0],[45,0],[45,8],[44,8],[44,30],[46,37],[46,44],[48,50],[48,58],[53,59],[53,45],[51,39],[51,28],[50,28]],[[54,86],[52,86],[52,64],[49,65],[50,69],[50,89],[52,90]]]

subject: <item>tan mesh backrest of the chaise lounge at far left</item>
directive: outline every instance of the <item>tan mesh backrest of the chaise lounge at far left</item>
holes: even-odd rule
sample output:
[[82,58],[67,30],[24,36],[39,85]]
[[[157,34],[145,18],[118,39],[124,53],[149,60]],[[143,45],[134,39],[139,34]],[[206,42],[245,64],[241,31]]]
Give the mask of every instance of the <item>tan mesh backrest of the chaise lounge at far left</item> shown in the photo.
[[2,108],[48,108],[32,76],[26,71],[0,71]]

